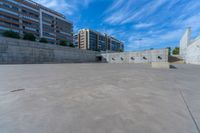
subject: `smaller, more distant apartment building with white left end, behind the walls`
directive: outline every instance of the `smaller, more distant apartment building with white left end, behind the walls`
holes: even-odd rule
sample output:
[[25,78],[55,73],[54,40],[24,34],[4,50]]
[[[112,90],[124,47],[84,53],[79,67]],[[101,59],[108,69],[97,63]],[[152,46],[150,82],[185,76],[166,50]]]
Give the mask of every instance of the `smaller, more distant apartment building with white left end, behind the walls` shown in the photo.
[[124,44],[121,41],[90,29],[81,29],[79,31],[78,47],[93,51],[119,52],[124,50]]

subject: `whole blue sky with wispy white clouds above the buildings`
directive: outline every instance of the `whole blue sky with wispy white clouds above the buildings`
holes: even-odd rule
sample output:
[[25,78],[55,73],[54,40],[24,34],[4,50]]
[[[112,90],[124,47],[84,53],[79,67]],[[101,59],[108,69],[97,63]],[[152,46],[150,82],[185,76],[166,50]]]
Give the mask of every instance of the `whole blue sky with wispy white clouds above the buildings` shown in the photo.
[[126,51],[175,47],[187,27],[200,34],[200,0],[34,0],[63,13],[74,31],[90,28],[125,43]]

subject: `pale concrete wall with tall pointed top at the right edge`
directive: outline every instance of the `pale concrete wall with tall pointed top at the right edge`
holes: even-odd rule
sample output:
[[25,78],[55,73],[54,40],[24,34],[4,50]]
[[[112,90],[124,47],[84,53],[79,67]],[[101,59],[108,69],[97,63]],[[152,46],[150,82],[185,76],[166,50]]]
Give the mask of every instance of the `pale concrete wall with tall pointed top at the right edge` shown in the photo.
[[190,35],[188,28],[180,41],[180,55],[187,64],[200,65],[200,37],[190,40]]

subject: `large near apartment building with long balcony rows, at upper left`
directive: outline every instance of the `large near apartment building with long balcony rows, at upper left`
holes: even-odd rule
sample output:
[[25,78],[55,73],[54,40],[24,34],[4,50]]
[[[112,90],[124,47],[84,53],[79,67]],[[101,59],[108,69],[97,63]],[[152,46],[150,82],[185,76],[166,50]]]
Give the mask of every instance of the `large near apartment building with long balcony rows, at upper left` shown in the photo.
[[73,24],[62,14],[31,0],[0,0],[0,34],[5,30],[33,33],[51,44],[73,43]]

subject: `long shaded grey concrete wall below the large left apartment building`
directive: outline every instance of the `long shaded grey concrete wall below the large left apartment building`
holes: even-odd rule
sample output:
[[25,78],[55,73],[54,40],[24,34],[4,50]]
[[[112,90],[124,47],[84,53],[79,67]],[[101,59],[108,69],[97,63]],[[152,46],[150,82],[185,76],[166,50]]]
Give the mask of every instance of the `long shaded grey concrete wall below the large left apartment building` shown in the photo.
[[98,52],[0,37],[0,64],[95,62]]

